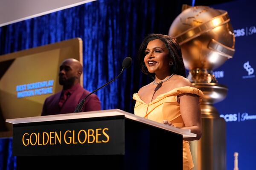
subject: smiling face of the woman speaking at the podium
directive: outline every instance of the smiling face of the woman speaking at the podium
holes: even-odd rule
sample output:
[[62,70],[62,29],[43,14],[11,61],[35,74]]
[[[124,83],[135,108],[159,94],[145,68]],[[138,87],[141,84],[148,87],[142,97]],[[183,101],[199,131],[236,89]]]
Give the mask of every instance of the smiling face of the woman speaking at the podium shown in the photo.
[[169,51],[163,41],[159,39],[148,42],[145,50],[144,62],[149,73],[164,74],[169,72]]

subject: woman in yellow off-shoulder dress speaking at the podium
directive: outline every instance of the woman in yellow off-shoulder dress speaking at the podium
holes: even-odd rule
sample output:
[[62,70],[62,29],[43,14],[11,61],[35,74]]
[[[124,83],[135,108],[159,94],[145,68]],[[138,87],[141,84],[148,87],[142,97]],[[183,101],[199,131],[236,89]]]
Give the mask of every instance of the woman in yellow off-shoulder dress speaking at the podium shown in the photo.
[[134,94],[134,113],[195,133],[195,138],[183,139],[183,170],[192,170],[194,164],[188,141],[201,138],[203,93],[185,78],[180,46],[173,37],[150,34],[140,46],[139,62],[143,73],[154,81]]

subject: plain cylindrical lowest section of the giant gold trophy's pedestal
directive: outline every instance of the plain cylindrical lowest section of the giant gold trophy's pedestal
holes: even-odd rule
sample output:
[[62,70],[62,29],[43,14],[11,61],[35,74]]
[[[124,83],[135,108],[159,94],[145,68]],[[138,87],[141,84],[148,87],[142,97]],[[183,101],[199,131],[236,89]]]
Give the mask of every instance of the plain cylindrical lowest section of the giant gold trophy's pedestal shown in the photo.
[[226,170],[226,122],[202,115],[202,137],[190,142],[194,170]]

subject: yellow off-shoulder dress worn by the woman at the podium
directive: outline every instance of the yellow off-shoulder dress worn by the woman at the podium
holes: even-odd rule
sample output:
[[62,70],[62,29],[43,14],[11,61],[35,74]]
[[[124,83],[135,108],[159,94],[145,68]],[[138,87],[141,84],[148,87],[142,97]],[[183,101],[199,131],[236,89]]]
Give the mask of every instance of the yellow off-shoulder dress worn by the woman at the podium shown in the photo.
[[[184,93],[196,94],[199,102],[202,101],[204,96],[203,92],[199,89],[185,86],[160,94],[153,101],[145,103],[136,93],[133,95],[133,99],[136,100],[134,114],[156,122],[168,120],[178,128],[185,127],[180,114],[180,104],[177,102],[177,96]],[[189,149],[189,142],[183,141],[183,170],[190,170],[193,167],[194,164]]]

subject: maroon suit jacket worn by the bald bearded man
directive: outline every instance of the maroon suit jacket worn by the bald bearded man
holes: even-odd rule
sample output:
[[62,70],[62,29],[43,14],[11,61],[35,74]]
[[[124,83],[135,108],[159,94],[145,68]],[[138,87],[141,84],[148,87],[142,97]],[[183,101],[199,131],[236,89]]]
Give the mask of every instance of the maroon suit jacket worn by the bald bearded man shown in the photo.
[[[64,102],[62,108],[59,107],[58,102],[61,98],[61,92],[53,94],[47,97],[44,101],[42,116],[53,115],[53,114],[63,114],[63,113],[73,113],[76,106],[84,99],[89,91],[81,87],[80,84],[74,85],[71,89],[71,94],[67,97],[66,102]],[[86,111],[99,111],[101,110],[101,103],[98,96],[91,94],[84,102],[82,112]]]

